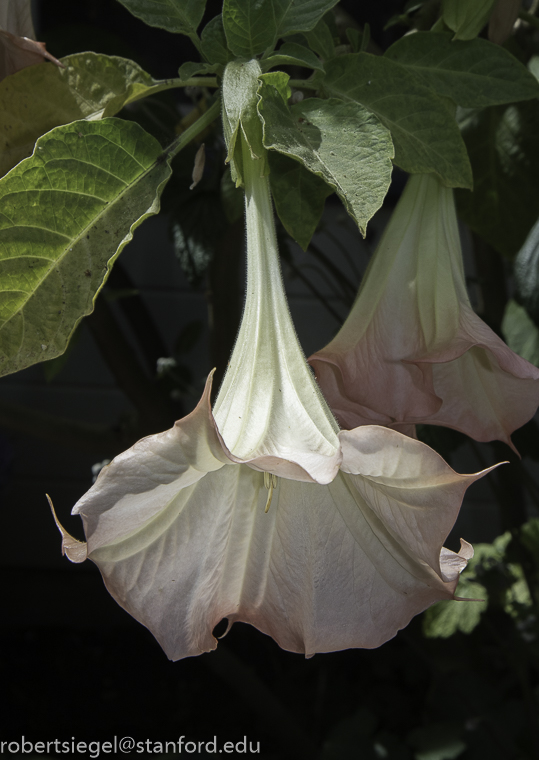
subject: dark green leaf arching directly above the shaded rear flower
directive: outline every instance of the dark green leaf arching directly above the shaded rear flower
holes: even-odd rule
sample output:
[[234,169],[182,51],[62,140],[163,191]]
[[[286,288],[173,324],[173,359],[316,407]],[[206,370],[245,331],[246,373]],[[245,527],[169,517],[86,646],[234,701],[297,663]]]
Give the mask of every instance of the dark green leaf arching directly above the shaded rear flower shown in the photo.
[[433,172],[449,187],[471,187],[466,147],[447,103],[405,66],[358,53],[326,64],[324,91],[361,104],[391,132],[395,163],[410,174]]

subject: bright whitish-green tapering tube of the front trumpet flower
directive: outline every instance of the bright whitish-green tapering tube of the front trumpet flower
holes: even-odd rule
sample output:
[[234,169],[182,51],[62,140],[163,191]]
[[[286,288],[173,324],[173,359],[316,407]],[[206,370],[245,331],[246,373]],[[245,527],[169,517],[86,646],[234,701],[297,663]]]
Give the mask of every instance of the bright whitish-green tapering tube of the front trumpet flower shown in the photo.
[[260,468],[276,475],[303,480],[307,473],[309,479],[327,483],[341,462],[338,426],[305,361],[288,310],[268,180],[241,140],[247,297],[215,402],[215,420],[236,461],[255,466],[260,458]]

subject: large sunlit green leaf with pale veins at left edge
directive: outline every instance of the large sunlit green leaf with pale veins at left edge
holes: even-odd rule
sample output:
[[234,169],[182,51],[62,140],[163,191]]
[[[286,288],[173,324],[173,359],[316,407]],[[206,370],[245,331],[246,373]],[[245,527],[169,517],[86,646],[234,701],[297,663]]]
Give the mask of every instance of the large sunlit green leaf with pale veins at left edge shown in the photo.
[[0,180],[0,374],[62,354],[170,176],[134,122],[79,121],[41,137]]

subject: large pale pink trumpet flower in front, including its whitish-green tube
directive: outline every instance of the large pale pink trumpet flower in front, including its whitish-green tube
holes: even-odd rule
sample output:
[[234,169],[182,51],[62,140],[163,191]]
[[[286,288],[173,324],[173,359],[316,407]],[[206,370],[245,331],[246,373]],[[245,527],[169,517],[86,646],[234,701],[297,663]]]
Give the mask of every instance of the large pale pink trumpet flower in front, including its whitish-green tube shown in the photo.
[[339,432],[293,329],[258,163],[244,143],[247,299],[214,413],[210,378],[190,415],[101,471],[73,510],[87,543],[59,526],[171,659],[214,649],[223,618],[307,655],[378,646],[453,598],[473,554],[442,543],[484,473],[387,428]]

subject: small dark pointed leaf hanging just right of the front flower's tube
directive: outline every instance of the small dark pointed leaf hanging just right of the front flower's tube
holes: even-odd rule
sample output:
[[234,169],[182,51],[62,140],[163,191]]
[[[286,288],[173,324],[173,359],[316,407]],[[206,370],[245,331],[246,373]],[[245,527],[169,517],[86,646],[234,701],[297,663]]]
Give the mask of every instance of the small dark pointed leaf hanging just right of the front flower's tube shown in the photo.
[[324,201],[333,188],[299,161],[269,153],[270,186],[279,219],[304,251],[318,226]]

